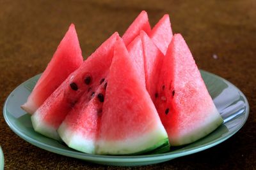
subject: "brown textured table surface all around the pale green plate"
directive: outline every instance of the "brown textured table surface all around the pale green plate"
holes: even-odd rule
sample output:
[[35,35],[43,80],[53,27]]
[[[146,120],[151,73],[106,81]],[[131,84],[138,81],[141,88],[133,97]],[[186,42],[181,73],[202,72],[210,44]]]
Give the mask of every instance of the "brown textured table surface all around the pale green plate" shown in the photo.
[[[256,169],[256,1],[0,1],[0,103],[44,71],[68,25],[76,25],[84,58],[113,32],[123,34],[141,10],[150,24],[165,13],[200,69],[234,83],[250,115],[232,138],[203,152],[134,169]],[[217,56],[217,59],[216,57]],[[6,169],[116,169],[47,152],[14,134],[0,115]],[[131,169],[123,167],[122,169]]]

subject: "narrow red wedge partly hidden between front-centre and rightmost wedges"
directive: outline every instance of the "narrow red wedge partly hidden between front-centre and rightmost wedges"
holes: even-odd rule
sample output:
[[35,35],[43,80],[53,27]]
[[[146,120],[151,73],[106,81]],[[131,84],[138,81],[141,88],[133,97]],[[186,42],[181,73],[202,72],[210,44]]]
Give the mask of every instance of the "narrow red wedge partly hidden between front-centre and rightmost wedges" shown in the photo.
[[141,31],[140,36],[143,46],[146,87],[154,102],[157,97],[157,81],[164,55],[157,46],[154,45],[146,32]]

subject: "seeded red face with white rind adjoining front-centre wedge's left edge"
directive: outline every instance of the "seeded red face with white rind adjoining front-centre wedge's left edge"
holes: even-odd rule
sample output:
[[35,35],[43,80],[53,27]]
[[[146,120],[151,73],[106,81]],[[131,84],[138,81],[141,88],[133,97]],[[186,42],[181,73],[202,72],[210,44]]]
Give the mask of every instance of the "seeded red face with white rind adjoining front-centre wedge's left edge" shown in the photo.
[[84,94],[61,123],[58,134],[70,147],[85,153],[95,153],[100,116],[108,78],[91,95]]

